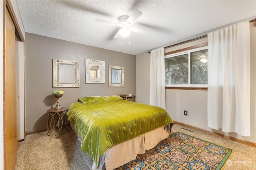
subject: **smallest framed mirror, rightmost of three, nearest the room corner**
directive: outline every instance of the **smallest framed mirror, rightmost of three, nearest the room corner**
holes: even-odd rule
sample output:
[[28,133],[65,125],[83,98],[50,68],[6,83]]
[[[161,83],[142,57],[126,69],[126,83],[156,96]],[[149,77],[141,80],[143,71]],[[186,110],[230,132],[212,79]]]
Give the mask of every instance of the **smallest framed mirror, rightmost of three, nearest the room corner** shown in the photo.
[[124,87],[124,67],[109,66],[108,87]]

